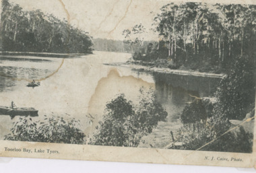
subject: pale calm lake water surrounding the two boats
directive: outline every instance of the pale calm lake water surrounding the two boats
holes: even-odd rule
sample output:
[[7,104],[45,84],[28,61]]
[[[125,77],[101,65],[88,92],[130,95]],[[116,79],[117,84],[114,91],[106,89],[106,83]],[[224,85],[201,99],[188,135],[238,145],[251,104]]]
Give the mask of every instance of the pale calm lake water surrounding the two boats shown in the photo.
[[[179,114],[193,96],[210,96],[219,79],[166,75],[133,71],[129,67],[104,65],[124,63],[127,53],[94,52],[71,59],[5,56],[0,57],[0,105],[32,107],[39,110],[35,120],[52,114],[77,118],[86,135],[94,131],[102,118],[106,102],[117,94],[137,102],[139,88],[156,90],[158,101],[166,108],[168,118],[159,123],[153,133],[143,138],[140,147],[149,144],[162,147],[170,141],[170,130],[180,127]],[[36,88],[26,87],[38,80]],[[93,123],[86,114],[95,116]],[[0,139],[9,133],[11,123],[18,117],[0,116]],[[89,135],[90,136],[90,135]],[[151,142],[154,141],[154,142]],[[159,142],[164,141],[164,142]],[[151,143],[150,143],[151,142]],[[158,144],[161,143],[161,144]]]

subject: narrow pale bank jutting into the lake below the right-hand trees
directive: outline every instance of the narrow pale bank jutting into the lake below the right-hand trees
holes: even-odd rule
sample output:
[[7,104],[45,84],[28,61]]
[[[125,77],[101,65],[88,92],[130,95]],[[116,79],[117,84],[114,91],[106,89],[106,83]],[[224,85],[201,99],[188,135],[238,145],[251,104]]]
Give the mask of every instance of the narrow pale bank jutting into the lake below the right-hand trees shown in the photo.
[[149,67],[145,65],[135,65],[134,63],[105,63],[104,65],[112,65],[119,67],[129,67],[136,71],[146,71],[146,72],[158,72],[166,74],[177,74],[177,75],[191,75],[200,77],[214,77],[214,78],[224,78],[225,74],[216,73],[205,73],[193,70],[183,70],[183,69],[169,69],[165,67]]

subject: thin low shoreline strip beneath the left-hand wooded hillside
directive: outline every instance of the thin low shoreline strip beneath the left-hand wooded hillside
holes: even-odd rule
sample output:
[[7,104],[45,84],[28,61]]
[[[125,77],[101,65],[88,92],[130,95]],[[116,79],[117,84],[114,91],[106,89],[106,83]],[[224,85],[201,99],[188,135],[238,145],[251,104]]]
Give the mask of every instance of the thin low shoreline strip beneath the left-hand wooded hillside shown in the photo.
[[71,58],[79,57],[82,55],[89,55],[82,53],[34,53],[34,52],[9,52],[0,51],[0,55],[11,55],[11,56],[34,56],[34,57],[52,57],[52,58]]

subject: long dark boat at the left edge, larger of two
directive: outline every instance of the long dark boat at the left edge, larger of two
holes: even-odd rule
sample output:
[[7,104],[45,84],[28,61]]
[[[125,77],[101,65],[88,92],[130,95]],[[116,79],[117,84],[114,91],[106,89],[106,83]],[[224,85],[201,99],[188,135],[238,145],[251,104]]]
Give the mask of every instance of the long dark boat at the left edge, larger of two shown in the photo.
[[38,110],[34,108],[10,108],[7,106],[0,106],[0,114],[14,116],[38,116]]

